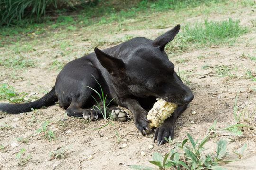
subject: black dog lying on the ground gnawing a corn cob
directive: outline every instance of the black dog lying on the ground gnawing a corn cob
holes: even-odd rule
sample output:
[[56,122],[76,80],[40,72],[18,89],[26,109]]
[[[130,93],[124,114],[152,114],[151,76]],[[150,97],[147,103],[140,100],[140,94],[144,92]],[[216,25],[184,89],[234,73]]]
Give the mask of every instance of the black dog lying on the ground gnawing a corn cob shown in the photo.
[[53,89],[42,98],[24,104],[0,104],[0,110],[18,114],[58,101],[68,116],[98,119],[101,113],[92,109],[96,105],[92,96],[98,101],[99,97],[92,89],[101,93],[99,83],[108,102],[114,98],[111,103],[126,107],[133,113],[135,125],[141,133],[149,130],[147,111],[156,98],[178,104],[172,116],[155,131],[154,142],[157,139],[158,144],[163,144],[165,137],[174,136],[175,120],[194,98],[189,87],[175,73],[174,64],[164,51],[165,45],[179,30],[180,25],[177,25],[153,41],[137,37],[102,51],[95,48],[95,53],[66,64]]

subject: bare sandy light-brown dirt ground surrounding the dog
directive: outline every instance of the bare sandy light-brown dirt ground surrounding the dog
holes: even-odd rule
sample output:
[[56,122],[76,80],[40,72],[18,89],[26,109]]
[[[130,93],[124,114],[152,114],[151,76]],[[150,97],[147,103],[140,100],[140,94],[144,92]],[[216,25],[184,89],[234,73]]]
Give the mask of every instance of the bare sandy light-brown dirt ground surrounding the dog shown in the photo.
[[[255,13],[254,13],[255,14]],[[212,17],[216,19],[216,16]],[[244,11],[243,15],[236,16],[241,23],[251,26],[250,19],[255,18],[249,11]],[[190,18],[191,20],[192,18]],[[198,19],[198,18],[197,18]],[[210,17],[209,17],[210,19]],[[168,29],[165,29],[168,30]],[[159,31],[165,30],[138,30],[127,31],[125,34],[141,34],[146,37],[157,37]],[[82,33],[81,33],[82,34]],[[120,33],[116,36],[124,36]],[[106,34],[105,37],[111,37]],[[69,40],[72,37],[64,37]],[[31,51],[22,55],[37,60],[35,68],[27,70],[0,70],[1,82],[7,82],[15,87],[18,92],[26,92],[27,97],[40,97],[42,90],[49,91],[55,84],[55,78],[59,71],[49,69],[53,61],[53,49],[49,46],[55,43],[43,42],[36,47],[36,55],[29,55]],[[46,43],[50,43],[46,45]],[[84,48],[91,48],[91,42],[77,43],[77,56],[81,56]],[[244,34],[232,46],[211,46],[209,48],[193,49],[179,56],[171,57],[175,66],[179,65],[183,77],[189,80],[189,87],[195,95],[189,108],[179,117],[176,122],[175,137],[177,141],[186,138],[186,132],[197,140],[202,139],[208,128],[216,121],[215,130],[224,129],[236,123],[234,119],[234,103],[238,94],[236,105],[237,115],[242,113],[239,123],[250,125],[254,128],[242,128],[242,134],[236,136],[232,132],[218,132],[217,137],[212,137],[205,147],[209,148],[207,153],[215,154],[217,151],[216,141],[224,138],[228,140],[227,151],[230,153],[227,159],[238,158],[232,151],[238,150],[244,143],[247,148],[239,161],[223,165],[229,170],[255,170],[256,166],[256,132],[255,132],[255,107],[256,107],[256,83],[247,78],[220,77],[214,66],[228,66],[234,75],[246,77],[246,68],[252,70],[256,75],[255,60],[250,60],[247,53],[256,56],[256,33]],[[8,49],[1,48],[0,51]],[[91,48],[92,50],[92,48]],[[244,55],[243,55],[244,54]],[[202,57],[203,56],[203,57]],[[73,60],[74,57],[60,56],[56,60]],[[179,59],[186,59],[187,62],[178,63]],[[202,69],[204,65],[211,67]],[[6,72],[18,73],[18,78],[11,78]],[[177,67],[176,67],[177,71]],[[22,78],[20,78],[22,77]],[[1,101],[4,102],[4,101]],[[196,114],[192,114],[195,111]],[[131,113],[128,111],[128,114]],[[37,129],[42,128],[42,122],[48,120],[48,127],[55,133],[55,139],[49,141],[44,139],[42,133],[37,133]],[[134,121],[113,122],[99,130],[108,123],[100,119],[86,123],[84,119],[70,118],[65,116],[65,110],[54,105],[48,108],[39,109],[34,112],[8,115],[0,113],[0,126],[10,126],[10,128],[0,129],[0,144],[4,149],[0,150],[0,170],[128,170],[128,165],[151,165],[152,153],[159,152],[165,155],[171,149],[172,144],[157,146],[153,143],[151,136],[142,136],[134,125]],[[117,135],[118,134],[118,135]],[[23,137],[27,142],[19,142],[17,138]],[[228,138],[234,139],[231,141]],[[126,147],[123,147],[126,144]],[[153,145],[152,149],[148,145]],[[59,151],[60,148],[67,149],[64,159],[51,159],[50,153]],[[26,149],[22,157],[31,157],[25,163],[16,159],[16,153],[22,148]],[[141,156],[141,151],[146,153]],[[92,155],[92,159],[88,157]],[[154,166],[153,166],[154,167]]]

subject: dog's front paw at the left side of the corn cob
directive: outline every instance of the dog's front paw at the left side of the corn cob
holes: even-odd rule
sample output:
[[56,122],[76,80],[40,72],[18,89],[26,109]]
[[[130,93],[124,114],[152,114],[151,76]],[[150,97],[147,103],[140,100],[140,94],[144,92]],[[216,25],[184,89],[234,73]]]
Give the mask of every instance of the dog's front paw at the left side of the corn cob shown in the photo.
[[135,126],[137,129],[140,131],[141,134],[146,134],[147,132],[151,132],[151,130],[148,128],[148,123],[150,121],[146,118],[147,116],[147,111],[146,110],[141,110],[137,117],[135,117]]

